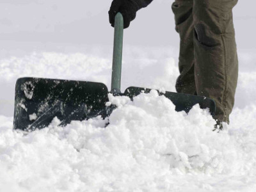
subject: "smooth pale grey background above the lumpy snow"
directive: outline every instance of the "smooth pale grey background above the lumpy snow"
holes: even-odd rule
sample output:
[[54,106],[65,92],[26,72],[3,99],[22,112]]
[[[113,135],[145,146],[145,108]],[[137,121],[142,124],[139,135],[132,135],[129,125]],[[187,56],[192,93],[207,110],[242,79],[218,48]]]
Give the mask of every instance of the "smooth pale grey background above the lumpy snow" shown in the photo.
[[[155,0],[140,10],[131,27],[125,30],[125,45],[179,46],[172,2]],[[111,45],[110,4],[109,0],[1,0],[1,55],[14,49],[56,51],[65,45],[70,50],[82,50],[83,46],[93,44]],[[239,49],[255,48],[255,6],[255,1],[243,0],[234,8]]]

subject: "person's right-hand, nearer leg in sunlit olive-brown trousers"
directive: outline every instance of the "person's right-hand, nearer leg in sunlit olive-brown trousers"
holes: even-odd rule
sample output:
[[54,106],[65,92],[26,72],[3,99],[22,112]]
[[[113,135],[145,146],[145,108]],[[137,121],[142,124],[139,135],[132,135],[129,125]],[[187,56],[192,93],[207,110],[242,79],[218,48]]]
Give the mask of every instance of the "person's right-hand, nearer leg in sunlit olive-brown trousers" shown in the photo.
[[214,99],[216,120],[229,122],[238,61],[232,18],[237,0],[194,0],[196,93]]

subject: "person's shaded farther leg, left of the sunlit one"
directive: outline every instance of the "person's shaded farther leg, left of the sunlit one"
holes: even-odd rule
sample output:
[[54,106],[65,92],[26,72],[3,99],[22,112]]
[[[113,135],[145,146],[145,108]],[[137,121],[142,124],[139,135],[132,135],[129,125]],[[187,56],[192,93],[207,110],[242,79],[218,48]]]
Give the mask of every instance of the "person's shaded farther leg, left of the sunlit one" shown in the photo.
[[172,10],[175,15],[175,29],[180,35],[180,76],[176,82],[176,90],[178,93],[196,95],[192,8],[193,0],[175,0],[172,4]]

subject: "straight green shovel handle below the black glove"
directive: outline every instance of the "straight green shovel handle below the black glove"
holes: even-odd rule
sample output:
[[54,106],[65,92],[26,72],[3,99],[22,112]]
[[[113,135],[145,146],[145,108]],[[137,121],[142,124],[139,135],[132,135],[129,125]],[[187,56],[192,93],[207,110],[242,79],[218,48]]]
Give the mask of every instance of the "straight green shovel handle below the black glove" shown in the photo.
[[121,93],[123,36],[124,36],[124,18],[121,13],[117,13],[115,16],[115,35],[114,35],[111,93]]

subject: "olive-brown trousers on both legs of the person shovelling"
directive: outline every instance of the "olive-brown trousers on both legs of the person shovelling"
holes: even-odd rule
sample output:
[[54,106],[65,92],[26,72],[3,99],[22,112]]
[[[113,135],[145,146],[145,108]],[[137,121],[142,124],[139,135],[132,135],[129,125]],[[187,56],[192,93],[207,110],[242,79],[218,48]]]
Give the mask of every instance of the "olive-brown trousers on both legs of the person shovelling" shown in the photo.
[[238,61],[232,8],[237,0],[175,0],[180,35],[176,90],[216,102],[216,120],[229,123],[237,86]]

